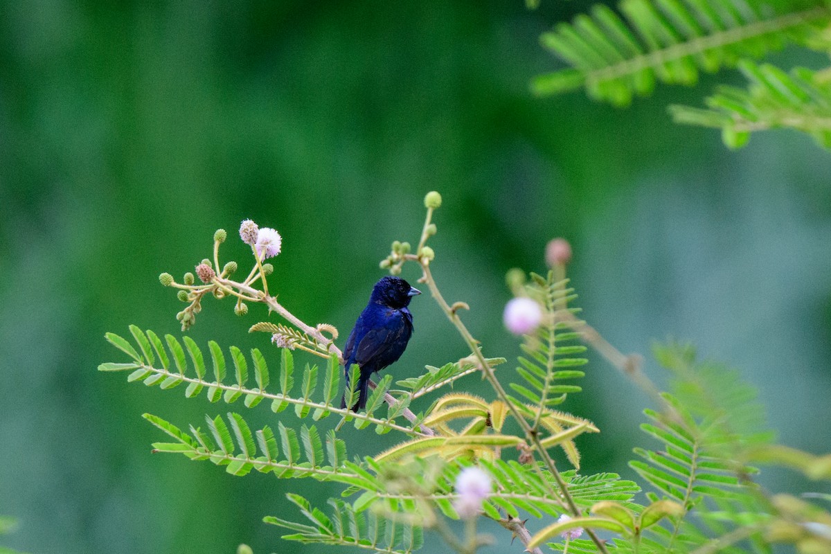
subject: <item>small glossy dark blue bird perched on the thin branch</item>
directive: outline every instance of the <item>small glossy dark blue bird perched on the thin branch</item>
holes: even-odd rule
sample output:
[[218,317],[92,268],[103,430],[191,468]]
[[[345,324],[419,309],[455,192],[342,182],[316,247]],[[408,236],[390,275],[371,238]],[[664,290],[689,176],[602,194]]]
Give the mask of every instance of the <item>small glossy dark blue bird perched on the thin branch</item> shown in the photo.
[[[361,367],[360,396],[352,411],[366,408],[371,375],[395,363],[404,354],[413,334],[413,315],[407,306],[416,294],[421,292],[401,277],[384,277],[372,288],[369,304],[358,316],[343,349],[347,386],[349,368],[352,364]],[[344,395],[341,407],[346,408],[346,405]]]

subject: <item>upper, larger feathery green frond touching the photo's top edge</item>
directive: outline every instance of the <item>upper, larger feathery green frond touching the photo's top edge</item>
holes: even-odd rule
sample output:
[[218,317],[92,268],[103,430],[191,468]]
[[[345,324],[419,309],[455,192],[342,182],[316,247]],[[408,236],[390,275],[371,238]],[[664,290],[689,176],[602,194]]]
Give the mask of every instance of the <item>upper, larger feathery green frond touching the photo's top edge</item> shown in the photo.
[[591,16],[543,34],[543,46],[572,67],[538,76],[534,91],[583,86],[597,100],[627,105],[651,93],[656,81],[692,85],[699,71],[804,42],[831,16],[824,2],[812,1],[624,0],[619,9],[625,20],[598,4]]

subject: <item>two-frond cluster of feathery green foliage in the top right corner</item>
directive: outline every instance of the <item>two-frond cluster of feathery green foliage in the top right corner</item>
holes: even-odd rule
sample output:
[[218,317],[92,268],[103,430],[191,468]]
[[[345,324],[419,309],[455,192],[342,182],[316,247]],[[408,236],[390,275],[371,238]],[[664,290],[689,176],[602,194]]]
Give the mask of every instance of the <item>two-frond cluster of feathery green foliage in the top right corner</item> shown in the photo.
[[789,73],[753,60],[785,44],[829,50],[831,10],[819,0],[622,0],[622,16],[598,4],[590,15],[558,23],[542,43],[568,69],[538,76],[533,90],[556,94],[584,87],[598,101],[623,106],[657,82],[694,85],[701,71],[739,66],[750,86],[722,86],[706,109],[671,106],[676,122],[715,127],[730,148],[750,133],[803,131],[831,147],[828,69]]

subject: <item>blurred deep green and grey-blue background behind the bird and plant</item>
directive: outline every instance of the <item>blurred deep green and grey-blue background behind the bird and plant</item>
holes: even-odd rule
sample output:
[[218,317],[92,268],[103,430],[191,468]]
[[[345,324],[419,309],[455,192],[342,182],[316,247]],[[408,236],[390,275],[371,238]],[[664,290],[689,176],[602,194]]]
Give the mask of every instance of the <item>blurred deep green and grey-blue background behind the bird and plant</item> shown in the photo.
[[[224,260],[242,262],[235,230],[253,218],[283,234],[272,290],[343,339],[391,241],[417,240],[430,189],[444,195],[435,277],[470,303],[486,354],[519,351],[500,321],[504,272],[542,270],[545,243],[563,236],[579,302],[609,341],[644,354],[653,338],[695,341],[760,387],[785,444],[827,452],[831,155],[788,132],[734,153],[671,125],[665,106],[700,104],[713,77],[628,110],[529,96],[529,79],[558,66],[540,32],[587,5],[2,3],[0,514],[20,526],[0,544],[324,552],[281,542],[261,518],[297,516],[286,490],[322,503],[332,488],[151,455],[160,433],[143,412],[186,426],[229,406],[97,372],[121,360],[103,335],[130,323],[178,334],[158,274],[192,270],[216,228],[231,237]],[[190,334],[267,349],[246,332],[264,311],[232,310],[208,302]],[[412,311],[396,376],[466,354],[429,297]],[[579,444],[583,469],[631,475],[647,400],[602,360],[585,385],[566,408],[603,433]],[[268,409],[246,417],[274,423]],[[367,433],[351,453],[394,439]],[[520,552],[492,530],[485,552]]]

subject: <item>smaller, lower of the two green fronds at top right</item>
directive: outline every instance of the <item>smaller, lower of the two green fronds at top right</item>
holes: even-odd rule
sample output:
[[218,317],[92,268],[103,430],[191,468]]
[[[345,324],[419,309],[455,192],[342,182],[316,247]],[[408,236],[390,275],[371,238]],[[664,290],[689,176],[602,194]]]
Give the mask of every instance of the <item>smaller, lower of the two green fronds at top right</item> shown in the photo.
[[750,133],[787,128],[803,131],[824,148],[831,148],[831,80],[829,70],[798,67],[786,73],[770,64],[743,61],[746,90],[721,86],[706,99],[707,109],[670,107],[678,123],[721,129],[730,148],[747,144]]

